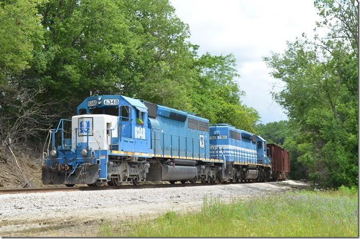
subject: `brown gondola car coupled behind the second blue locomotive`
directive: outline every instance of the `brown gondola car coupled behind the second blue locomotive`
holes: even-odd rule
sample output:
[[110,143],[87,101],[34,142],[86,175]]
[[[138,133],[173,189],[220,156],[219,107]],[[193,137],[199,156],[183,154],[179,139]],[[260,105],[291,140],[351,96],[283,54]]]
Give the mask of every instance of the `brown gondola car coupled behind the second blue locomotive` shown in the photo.
[[267,157],[272,164],[272,178],[275,180],[285,180],[290,173],[290,154],[284,148],[275,144],[267,144]]

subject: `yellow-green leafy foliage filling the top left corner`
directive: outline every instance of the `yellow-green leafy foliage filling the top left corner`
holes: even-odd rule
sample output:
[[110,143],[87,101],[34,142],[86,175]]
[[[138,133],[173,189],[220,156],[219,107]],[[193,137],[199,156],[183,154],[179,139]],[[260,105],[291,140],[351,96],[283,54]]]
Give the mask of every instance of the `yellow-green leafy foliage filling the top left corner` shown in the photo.
[[43,2],[0,2],[0,86],[35,61],[33,51],[41,47],[44,32],[36,7]]

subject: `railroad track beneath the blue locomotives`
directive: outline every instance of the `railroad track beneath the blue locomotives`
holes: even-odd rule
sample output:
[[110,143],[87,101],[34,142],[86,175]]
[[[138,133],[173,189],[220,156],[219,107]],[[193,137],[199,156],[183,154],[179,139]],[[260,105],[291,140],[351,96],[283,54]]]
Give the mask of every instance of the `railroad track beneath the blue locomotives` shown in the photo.
[[252,183],[249,182],[215,182],[215,183],[175,183],[175,184],[140,184],[122,185],[122,186],[100,186],[100,187],[29,187],[29,188],[7,188],[1,189],[1,194],[26,194],[26,193],[51,193],[51,192],[71,192],[71,191],[93,191],[93,190],[111,190],[111,189],[140,189],[140,188],[166,188],[166,187],[194,187],[194,186],[213,186],[223,184]]

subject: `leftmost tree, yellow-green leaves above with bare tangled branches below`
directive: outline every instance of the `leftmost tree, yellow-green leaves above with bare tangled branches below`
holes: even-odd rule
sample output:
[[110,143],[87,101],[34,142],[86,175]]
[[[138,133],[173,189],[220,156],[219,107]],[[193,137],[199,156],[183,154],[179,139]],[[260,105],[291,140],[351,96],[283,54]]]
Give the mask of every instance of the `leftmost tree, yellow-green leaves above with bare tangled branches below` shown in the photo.
[[[37,7],[41,0],[0,3],[0,146],[5,140],[23,144],[37,140],[51,123],[50,101],[40,101],[42,89],[29,89],[21,80],[31,67],[39,68],[44,56],[44,29]],[[41,128],[41,129],[40,129]]]

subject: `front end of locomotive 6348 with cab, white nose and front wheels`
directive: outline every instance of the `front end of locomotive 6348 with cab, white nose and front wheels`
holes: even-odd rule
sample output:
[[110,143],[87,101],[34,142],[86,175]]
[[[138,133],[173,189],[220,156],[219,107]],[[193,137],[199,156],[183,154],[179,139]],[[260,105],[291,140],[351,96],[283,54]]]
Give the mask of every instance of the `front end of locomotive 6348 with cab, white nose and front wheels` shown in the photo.
[[[71,133],[65,130],[70,123]],[[88,97],[71,121],[62,119],[51,130],[48,146],[52,148],[44,152],[43,184],[94,185],[114,177],[116,182],[143,181],[149,165],[139,164],[138,155],[151,153],[149,131],[147,107],[140,100],[122,95]]]

